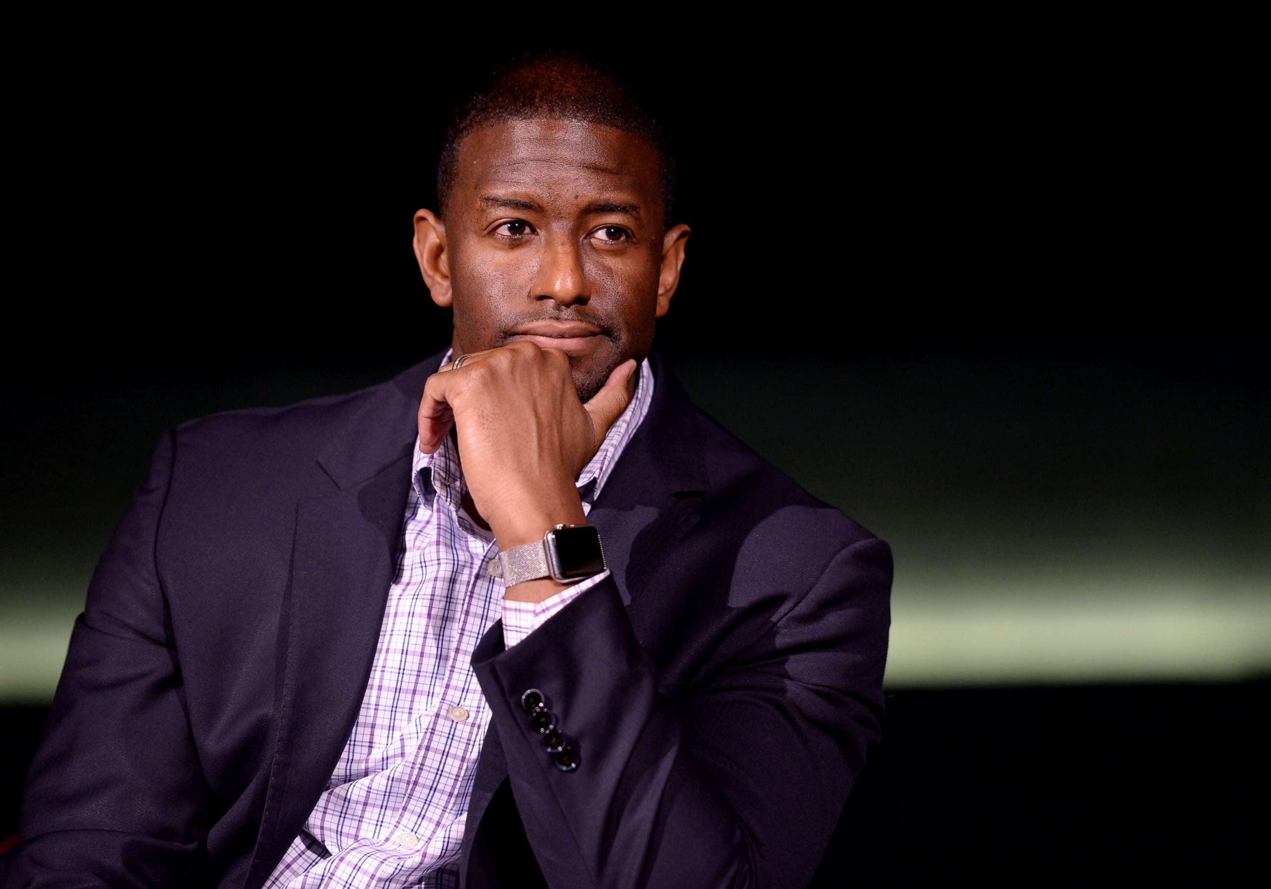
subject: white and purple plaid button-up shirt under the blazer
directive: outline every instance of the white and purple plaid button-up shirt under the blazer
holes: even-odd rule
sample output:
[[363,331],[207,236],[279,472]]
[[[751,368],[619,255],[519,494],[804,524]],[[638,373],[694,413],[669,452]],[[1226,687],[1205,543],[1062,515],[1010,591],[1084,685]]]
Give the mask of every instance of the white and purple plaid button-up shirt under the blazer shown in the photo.
[[[442,364],[449,360],[446,350]],[[578,476],[585,513],[652,398],[646,359],[636,398]],[[468,799],[491,720],[473,650],[500,617],[512,647],[609,576],[540,603],[505,602],[502,577],[491,572],[498,544],[464,510],[464,491],[451,439],[428,455],[417,438],[402,556],[362,707],[327,790],[266,889],[459,885]]]

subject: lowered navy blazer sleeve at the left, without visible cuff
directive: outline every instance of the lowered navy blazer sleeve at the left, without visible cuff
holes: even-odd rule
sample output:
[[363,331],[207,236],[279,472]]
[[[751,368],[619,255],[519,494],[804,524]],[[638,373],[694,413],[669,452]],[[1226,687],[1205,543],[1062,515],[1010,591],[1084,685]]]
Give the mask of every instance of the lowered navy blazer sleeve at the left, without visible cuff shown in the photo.
[[27,776],[14,886],[193,885],[207,791],[155,541],[174,432],[98,561]]

